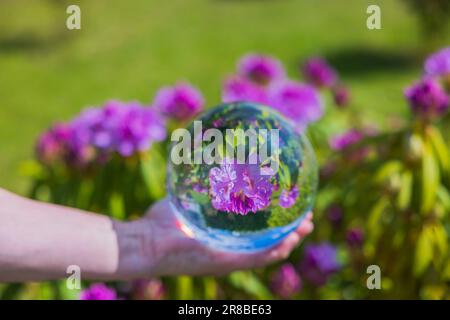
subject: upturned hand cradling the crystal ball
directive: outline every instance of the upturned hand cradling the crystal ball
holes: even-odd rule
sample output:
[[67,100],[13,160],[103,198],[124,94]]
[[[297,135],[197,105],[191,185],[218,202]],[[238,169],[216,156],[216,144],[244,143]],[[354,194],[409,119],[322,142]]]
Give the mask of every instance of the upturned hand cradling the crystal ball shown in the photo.
[[[137,253],[126,255],[122,269],[141,277],[162,275],[223,275],[285,259],[302,238],[313,230],[312,213],[280,244],[257,253],[235,253],[210,248],[182,231],[167,199],[155,204],[148,214],[128,226],[126,238],[139,239]],[[130,237],[130,235],[132,235]],[[119,242],[120,241],[119,232]],[[124,241],[125,243],[128,241]],[[119,247],[123,245],[119,244]],[[127,247],[127,245],[125,245]],[[129,246],[128,246],[129,247]],[[135,250],[136,251],[136,250]]]

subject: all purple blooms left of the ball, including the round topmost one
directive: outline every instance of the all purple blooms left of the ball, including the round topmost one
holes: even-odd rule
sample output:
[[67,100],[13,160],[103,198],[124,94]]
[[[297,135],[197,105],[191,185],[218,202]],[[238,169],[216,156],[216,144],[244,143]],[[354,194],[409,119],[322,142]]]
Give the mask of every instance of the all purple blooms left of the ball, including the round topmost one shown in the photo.
[[44,132],[36,143],[37,158],[48,166],[84,168],[114,153],[129,157],[164,140],[167,119],[185,122],[203,108],[201,92],[188,83],[161,88],[152,106],[111,100]]

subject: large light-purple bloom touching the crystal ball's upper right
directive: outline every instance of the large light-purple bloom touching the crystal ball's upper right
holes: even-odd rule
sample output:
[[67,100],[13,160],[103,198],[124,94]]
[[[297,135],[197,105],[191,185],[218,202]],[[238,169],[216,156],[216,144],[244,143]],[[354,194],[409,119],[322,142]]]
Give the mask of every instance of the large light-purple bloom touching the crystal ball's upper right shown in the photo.
[[299,131],[323,115],[322,102],[314,87],[295,81],[280,81],[271,85],[269,105],[292,120]]

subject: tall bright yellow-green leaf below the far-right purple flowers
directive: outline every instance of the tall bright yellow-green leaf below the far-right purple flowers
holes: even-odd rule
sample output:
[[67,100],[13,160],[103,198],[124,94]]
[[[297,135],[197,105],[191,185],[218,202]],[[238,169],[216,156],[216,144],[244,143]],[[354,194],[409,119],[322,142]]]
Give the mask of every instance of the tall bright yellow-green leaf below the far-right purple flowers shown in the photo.
[[422,206],[421,212],[427,214],[433,208],[439,189],[439,167],[428,143],[424,146],[422,158]]

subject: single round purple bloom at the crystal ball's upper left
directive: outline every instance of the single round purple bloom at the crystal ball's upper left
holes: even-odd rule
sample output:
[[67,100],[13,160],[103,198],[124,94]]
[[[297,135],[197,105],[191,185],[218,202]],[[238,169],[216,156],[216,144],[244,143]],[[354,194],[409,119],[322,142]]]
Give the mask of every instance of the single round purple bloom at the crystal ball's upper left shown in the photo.
[[189,120],[200,113],[204,104],[200,91],[187,83],[160,89],[153,101],[153,106],[164,115],[181,121]]

